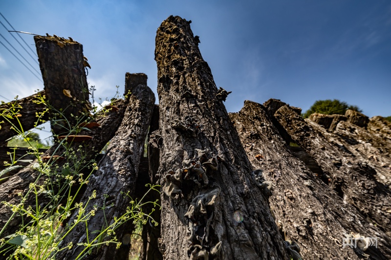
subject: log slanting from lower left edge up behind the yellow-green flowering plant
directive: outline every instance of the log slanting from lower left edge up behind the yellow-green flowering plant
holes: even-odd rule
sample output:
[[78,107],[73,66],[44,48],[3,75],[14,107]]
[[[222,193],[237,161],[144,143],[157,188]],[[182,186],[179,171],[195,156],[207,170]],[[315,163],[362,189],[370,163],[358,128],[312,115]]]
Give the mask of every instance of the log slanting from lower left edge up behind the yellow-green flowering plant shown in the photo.
[[[116,112],[110,112],[108,115],[98,116],[97,122],[101,125],[100,127],[94,127],[90,129],[90,131],[82,130],[81,135],[90,135],[93,138],[91,140],[84,141],[82,144],[80,142],[72,142],[71,148],[74,151],[79,149],[79,145],[83,147],[80,148],[80,152],[76,152],[76,158],[65,158],[65,160],[59,161],[57,160],[52,165],[52,170],[55,170],[55,166],[58,165],[61,170],[65,163],[69,163],[67,166],[69,169],[72,169],[74,162],[78,160],[92,160],[96,157],[96,155],[102,150],[102,148],[106,145],[106,143],[114,136],[114,133],[118,126],[120,125],[124,112],[125,112],[125,104],[123,100],[117,100],[116,106],[119,108]],[[53,145],[43,156],[51,156],[51,155],[60,155],[65,157],[65,148],[60,145]],[[55,154],[54,154],[55,153]],[[43,182],[47,178],[46,176],[40,176],[39,172],[35,171],[33,168],[34,163],[37,160],[33,161],[29,167],[22,169],[18,174],[12,176],[10,179],[5,181],[0,185],[0,198],[2,201],[7,201],[12,204],[18,204],[21,202],[21,197],[18,196],[18,193],[22,193],[24,196],[29,189],[29,184],[36,181],[37,184],[43,185]],[[25,208],[28,205],[35,207],[35,197],[30,196],[24,202]],[[47,197],[41,194],[39,203],[42,209],[47,206]],[[7,220],[12,216],[11,208],[5,206],[4,204],[0,205],[0,237],[3,238],[7,235],[15,233],[15,231],[21,225],[21,218],[15,216],[12,221],[5,227]]]

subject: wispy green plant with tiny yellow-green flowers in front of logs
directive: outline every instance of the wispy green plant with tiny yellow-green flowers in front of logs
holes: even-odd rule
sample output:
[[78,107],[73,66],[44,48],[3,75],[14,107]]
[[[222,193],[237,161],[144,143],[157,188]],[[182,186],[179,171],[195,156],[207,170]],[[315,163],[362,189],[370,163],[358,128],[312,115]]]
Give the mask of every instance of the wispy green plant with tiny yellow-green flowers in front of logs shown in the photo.
[[[37,102],[43,102],[46,104],[44,97],[40,97]],[[15,102],[16,104],[16,102]],[[46,104],[52,111],[53,108]],[[11,106],[10,109],[0,111],[0,116],[9,121],[12,124],[12,129],[15,131],[17,137],[26,142],[29,146],[29,154],[34,155],[36,160],[32,167],[37,173],[37,177],[29,184],[28,190],[25,193],[20,192],[19,203],[10,203],[7,201],[1,201],[6,207],[12,210],[12,215],[0,230],[0,256],[4,254],[8,256],[8,259],[54,259],[56,254],[62,250],[72,248],[73,244],[62,244],[64,238],[72,231],[76,226],[80,226],[82,223],[86,230],[87,241],[85,243],[78,244],[83,246],[82,252],[76,257],[76,259],[83,259],[90,254],[94,248],[99,248],[102,245],[115,243],[117,247],[121,245],[120,241],[116,240],[115,231],[121,227],[127,221],[143,221],[146,223],[150,220],[157,225],[152,217],[151,213],[147,214],[142,211],[142,207],[147,203],[152,203],[153,207],[159,206],[157,201],[144,201],[144,197],[137,201],[130,198],[130,204],[126,210],[126,213],[122,216],[115,218],[113,223],[104,221],[101,229],[94,231],[94,238],[89,239],[91,231],[88,230],[88,220],[96,214],[97,211],[103,211],[107,208],[106,197],[103,205],[94,205],[93,209],[87,211],[87,206],[94,203],[96,199],[96,193],[93,192],[87,201],[77,201],[78,195],[83,191],[83,187],[87,185],[88,179],[91,174],[98,169],[95,160],[87,160],[87,151],[83,145],[75,146],[68,143],[66,139],[58,141],[52,149],[55,149],[53,154],[63,151],[63,156],[66,161],[60,167],[54,157],[48,160],[43,160],[42,153],[39,152],[37,147],[33,144],[37,140],[28,138],[31,132],[26,132],[22,129],[18,117],[14,117],[21,107]],[[53,124],[62,125],[69,134],[79,133],[82,128],[78,126],[71,126],[69,121],[64,116],[64,111],[55,111],[54,115],[57,116],[51,119]],[[37,115],[38,120],[42,115]],[[88,116],[75,117],[77,124],[86,120],[91,120]],[[34,142],[34,143],[33,143]],[[15,145],[14,151],[18,149]],[[16,162],[20,160],[15,158],[15,153],[10,153],[10,162],[6,164],[8,166],[3,172],[15,169]],[[21,167],[21,166],[18,166]],[[158,191],[158,185],[149,184],[149,192]],[[121,193],[122,196],[129,196],[129,194]],[[42,204],[42,200],[47,201],[45,205]],[[33,203],[28,203],[33,201]],[[153,211],[153,209],[152,209]],[[74,212],[77,212],[77,218],[72,222],[67,222],[69,216]],[[105,215],[106,216],[106,215]],[[9,236],[3,236],[7,226],[15,218],[21,218],[22,224],[19,230]],[[64,225],[64,223],[66,225]]]

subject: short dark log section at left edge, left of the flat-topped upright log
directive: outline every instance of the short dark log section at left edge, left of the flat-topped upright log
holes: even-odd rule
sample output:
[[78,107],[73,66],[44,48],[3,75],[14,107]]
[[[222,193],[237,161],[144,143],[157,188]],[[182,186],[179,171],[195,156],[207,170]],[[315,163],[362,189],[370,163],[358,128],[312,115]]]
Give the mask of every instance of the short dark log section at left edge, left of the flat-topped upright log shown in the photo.
[[[4,119],[0,116],[0,121],[4,121],[0,123],[0,146],[3,146],[6,144],[6,140],[10,139],[11,137],[16,135],[15,130],[11,129],[11,126],[16,127],[21,132],[25,132],[27,130],[30,130],[31,128],[36,126],[36,123],[38,121],[38,118],[36,115],[42,116],[40,119],[42,120],[48,120],[49,115],[48,113],[43,113],[46,111],[47,107],[43,103],[35,103],[34,101],[37,101],[39,97],[44,96],[45,92],[41,91],[37,94],[31,95],[27,98],[21,99],[21,100],[15,100],[11,101],[5,104],[0,105],[0,114],[5,113],[5,115],[9,115],[10,113],[6,112],[7,110],[11,109],[12,107],[15,107],[15,113],[17,113],[17,117],[19,119],[19,122],[21,125],[19,125],[19,122],[16,118],[10,119]],[[10,121],[7,121],[10,120]],[[39,121],[37,125],[41,124],[42,122]],[[22,128],[21,128],[22,126]]]

